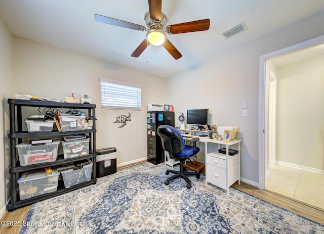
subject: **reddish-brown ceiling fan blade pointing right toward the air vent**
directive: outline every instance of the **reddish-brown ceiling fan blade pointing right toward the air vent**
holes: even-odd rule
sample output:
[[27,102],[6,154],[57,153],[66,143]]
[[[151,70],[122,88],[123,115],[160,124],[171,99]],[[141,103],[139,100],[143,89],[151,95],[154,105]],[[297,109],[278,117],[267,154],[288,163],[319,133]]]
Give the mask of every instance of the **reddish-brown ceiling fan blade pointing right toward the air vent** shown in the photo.
[[185,33],[185,32],[197,32],[205,31],[209,29],[210,20],[196,20],[186,23],[173,24],[166,27],[166,31],[169,34]]

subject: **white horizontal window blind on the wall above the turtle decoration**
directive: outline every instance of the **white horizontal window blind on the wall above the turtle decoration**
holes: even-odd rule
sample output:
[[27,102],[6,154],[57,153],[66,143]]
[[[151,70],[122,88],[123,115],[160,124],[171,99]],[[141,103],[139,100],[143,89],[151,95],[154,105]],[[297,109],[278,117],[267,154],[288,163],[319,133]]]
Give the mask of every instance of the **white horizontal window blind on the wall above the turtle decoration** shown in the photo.
[[101,108],[141,110],[142,86],[100,78]]

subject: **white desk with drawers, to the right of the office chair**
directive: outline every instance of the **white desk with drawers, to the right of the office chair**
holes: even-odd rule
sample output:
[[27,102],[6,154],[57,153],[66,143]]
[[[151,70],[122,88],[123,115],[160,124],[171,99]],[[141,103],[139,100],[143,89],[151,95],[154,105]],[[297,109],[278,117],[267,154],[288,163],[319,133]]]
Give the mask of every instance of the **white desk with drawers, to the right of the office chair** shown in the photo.
[[[183,138],[186,140],[192,138],[186,138],[187,134],[183,134]],[[229,187],[238,180],[240,184],[240,142],[241,140],[234,139],[231,142],[217,141],[217,139],[210,139],[207,137],[201,137],[197,135],[190,135],[192,137],[198,137],[199,142],[205,143],[205,162],[206,162],[206,184],[212,183],[224,190],[229,195]],[[233,150],[237,150],[236,155],[230,156],[228,149],[231,147]],[[221,148],[226,148],[226,155],[218,153]]]

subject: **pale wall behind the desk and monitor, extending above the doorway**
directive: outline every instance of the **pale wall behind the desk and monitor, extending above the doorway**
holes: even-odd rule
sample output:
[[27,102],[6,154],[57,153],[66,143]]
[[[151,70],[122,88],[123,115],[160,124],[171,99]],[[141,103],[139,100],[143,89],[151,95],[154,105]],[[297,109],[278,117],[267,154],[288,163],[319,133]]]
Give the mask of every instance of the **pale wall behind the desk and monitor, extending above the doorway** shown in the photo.
[[[236,136],[242,139],[243,181],[257,186],[259,182],[260,56],[323,35],[323,21],[324,13],[318,14],[168,78],[167,101],[175,105],[176,112],[209,108],[212,124],[238,126]],[[248,116],[243,117],[242,104],[245,101],[248,102]]]

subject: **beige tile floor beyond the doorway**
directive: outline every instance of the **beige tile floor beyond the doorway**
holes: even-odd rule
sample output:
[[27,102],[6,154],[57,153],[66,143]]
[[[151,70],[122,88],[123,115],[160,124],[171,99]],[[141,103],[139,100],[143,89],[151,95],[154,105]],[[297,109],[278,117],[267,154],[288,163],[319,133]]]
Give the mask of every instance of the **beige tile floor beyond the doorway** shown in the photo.
[[269,164],[265,187],[324,210],[324,174]]

